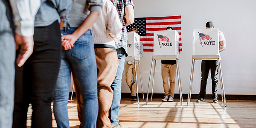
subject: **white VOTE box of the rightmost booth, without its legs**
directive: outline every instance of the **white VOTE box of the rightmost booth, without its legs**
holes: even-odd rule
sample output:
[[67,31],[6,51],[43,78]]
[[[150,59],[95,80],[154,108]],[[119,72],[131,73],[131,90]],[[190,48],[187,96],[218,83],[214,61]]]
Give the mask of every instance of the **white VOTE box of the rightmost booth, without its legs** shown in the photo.
[[193,32],[193,55],[218,55],[218,29],[195,29]]

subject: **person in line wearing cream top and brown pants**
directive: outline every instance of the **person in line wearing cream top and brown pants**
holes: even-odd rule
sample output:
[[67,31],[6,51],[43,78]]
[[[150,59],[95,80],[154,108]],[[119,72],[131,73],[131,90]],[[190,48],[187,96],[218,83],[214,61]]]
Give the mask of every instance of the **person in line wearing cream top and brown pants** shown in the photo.
[[93,24],[94,50],[98,72],[99,114],[97,128],[110,128],[108,111],[112,104],[111,84],[115,79],[118,58],[115,41],[121,39],[122,23],[116,7],[109,0],[103,0],[99,19]]

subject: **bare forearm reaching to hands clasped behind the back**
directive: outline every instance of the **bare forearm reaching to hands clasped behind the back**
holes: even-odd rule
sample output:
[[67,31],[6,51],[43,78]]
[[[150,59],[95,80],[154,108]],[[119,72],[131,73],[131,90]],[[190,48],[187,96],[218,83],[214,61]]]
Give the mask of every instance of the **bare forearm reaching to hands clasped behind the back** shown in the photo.
[[90,14],[84,19],[83,23],[76,29],[75,32],[73,32],[70,35],[63,35],[61,37],[62,40],[62,46],[64,50],[69,50],[74,47],[74,44],[76,40],[84,34],[90,27],[93,25],[93,23],[96,22],[96,20],[99,18],[100,12],[98,11],[92,11]]

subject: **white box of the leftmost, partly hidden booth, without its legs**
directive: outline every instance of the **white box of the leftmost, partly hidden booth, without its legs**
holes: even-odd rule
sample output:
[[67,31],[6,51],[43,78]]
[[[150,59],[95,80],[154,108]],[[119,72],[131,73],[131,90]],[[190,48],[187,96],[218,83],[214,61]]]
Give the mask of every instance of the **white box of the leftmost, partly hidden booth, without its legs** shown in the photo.
[[128,56],[135,56],[140,58],[140,35],[135,32],[128,32]]

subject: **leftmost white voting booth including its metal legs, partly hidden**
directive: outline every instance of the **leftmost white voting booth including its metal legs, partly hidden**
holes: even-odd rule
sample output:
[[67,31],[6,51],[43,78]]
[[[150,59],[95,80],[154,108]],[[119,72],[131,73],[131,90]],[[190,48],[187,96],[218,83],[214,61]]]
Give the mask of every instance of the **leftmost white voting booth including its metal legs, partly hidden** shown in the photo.
[[[140,35],[136,34],[135,32],[128,32],[128,56],[125,58],[125,61],[134,61],[134,67],[135,67],[135,77],[136,77],[136,83],[137,83],[137,102],[139,102],[139,92],[138,92],[138,82],[137,82],[137,71],[136,71],[136,61],[138,61],[139,64],[139,72],[140,72]],[[142,86],[142,79],[141,79],[141,73],[140,73],[140,83],[141,83],[141,90],[142,90],[142,96],[144,101],[144,92],[143,92],[143,86]]]

